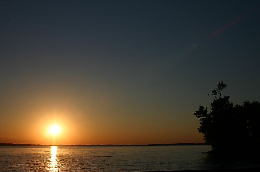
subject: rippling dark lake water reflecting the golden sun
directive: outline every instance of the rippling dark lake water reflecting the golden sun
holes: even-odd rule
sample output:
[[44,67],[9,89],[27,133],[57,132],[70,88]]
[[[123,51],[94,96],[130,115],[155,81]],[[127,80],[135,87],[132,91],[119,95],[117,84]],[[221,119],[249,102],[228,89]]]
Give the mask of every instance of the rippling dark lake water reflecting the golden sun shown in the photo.
[[0,171],[156,171],[260,167],[212,159],[210,146],[1,146]]

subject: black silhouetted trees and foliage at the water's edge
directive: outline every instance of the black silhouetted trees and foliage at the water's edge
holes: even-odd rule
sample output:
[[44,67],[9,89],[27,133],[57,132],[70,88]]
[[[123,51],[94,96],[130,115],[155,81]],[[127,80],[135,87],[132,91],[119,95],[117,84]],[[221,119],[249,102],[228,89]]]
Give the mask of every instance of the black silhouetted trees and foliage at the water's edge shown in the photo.
[[245,101],[234,106],[229,96],[221,97],[225,88],[226,84],[219,82],[217,89],[209,94],[214,97],[210,113],[203,106],[194,112],[200,120],[198,131],[215,150],[259,152],[260,102]]

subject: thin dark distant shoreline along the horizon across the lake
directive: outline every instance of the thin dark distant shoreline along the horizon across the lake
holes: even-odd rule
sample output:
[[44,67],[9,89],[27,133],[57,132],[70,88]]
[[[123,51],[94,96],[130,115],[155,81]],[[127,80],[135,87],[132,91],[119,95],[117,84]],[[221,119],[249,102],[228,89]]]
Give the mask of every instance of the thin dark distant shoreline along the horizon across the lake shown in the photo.
[[169,143],[169,144],[22,144],[22,143],[0,143],[0,146],[186,146],[186,145],[208,145],[206,143]]

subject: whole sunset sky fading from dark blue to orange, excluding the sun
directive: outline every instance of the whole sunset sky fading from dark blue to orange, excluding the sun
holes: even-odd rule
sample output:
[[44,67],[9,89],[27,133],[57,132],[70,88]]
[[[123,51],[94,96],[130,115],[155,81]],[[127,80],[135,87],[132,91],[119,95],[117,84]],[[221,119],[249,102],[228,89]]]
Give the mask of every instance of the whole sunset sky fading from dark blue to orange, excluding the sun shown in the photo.
[[2,0],[0,143],[204,142],[193,113],[218,82],[234,104],[260,101],[259,8]]

